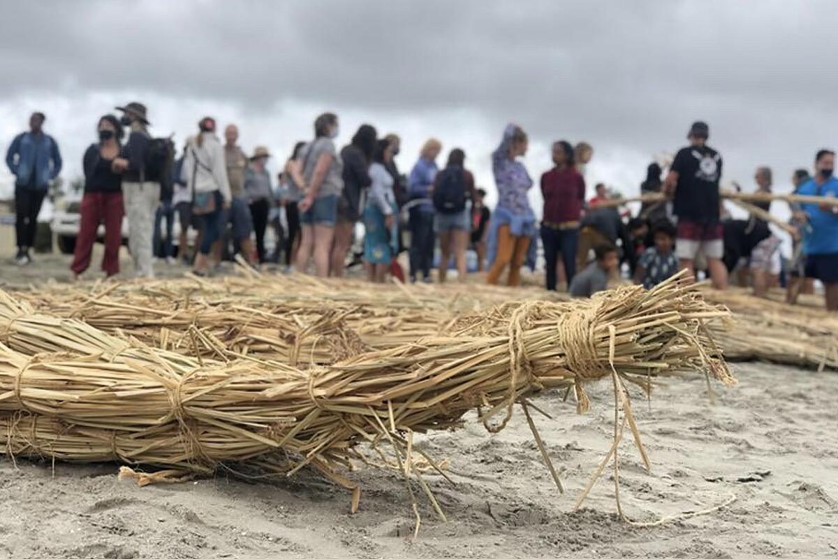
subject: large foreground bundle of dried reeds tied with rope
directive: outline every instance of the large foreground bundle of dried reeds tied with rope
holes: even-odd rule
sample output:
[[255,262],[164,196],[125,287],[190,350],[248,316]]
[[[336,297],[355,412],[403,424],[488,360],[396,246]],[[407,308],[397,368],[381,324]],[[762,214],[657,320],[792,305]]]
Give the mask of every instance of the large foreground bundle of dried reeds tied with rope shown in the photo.
[[[675,278],[590,301],[510,303],[461,318],[446,336],[308,370],[255,358],[202,364],[124,341],[103,351],[108,334],[91,341],[90,331],[68,329],[52,347],[72,355],[0,346],[0,443],[13,455],[197,472],[246,461],[292,474],[311,464],[351,486],[336,468],[359,443],[389,443],[409,464],[412,432],[457,427],[474,408],[497,431],[516,402],[546,388],[572,390],[583,411],[585,384],[603,377],[639,443],[624,383],[649,390],[653,377],[688,370],[731,383],[705,326],[726,316]],[[44,347],[33,330],[54,320],[29,315],[6,327],[14,344]],[[279,466],[286,456],[294,462]]]

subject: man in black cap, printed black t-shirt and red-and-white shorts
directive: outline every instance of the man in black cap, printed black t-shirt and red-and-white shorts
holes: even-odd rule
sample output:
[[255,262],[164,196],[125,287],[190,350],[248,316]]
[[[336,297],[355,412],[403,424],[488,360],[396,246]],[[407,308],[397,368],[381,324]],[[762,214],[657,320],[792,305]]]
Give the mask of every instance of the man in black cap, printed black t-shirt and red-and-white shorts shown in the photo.
[[727,287],[727,268],[722,262],[722,222],[719,215],[719,179],[722,156],[707,146],[710,128],[695,122],[687,139],[690,145],[675,154],[664,181],[664,192],[674,195],[673,213],[678,218],[675,254],[680,267],[695,275],[696,256],[703,251],[713,287]]

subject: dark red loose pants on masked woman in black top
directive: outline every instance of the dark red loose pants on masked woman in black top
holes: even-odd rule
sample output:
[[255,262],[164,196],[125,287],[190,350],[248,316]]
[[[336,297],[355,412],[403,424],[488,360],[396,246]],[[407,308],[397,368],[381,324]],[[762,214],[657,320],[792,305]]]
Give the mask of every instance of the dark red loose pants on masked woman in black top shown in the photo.
[[99,224],[105,224],[105,256],[102,272],[108,276],[119,273],[119,247],[122,246],[122,192],[85,192],[81,199],[81,223],[75,239],[70,270],[80,274],[91,265],[93,243]]

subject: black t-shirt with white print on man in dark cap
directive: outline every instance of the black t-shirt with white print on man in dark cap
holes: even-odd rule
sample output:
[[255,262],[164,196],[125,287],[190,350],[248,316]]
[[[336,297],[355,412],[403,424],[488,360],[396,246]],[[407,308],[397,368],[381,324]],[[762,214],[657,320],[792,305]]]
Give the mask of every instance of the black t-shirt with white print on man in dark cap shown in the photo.
[[670,169],[678,173],[673,213],[700,223],[718,220],[722,156],[706,146],[689,146],[675,155]]

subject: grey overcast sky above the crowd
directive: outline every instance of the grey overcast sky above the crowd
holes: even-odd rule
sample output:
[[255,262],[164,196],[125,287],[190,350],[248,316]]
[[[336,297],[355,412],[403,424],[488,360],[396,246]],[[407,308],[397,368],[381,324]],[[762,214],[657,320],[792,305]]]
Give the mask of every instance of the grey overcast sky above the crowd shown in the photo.
[[341,118],[339,144],[362,122],[399,133],[405,172],[439,137],[446,152],[466,150],[491,199],[489,153],[506,122],[530,132],[534,178],[552,141],[586,140],[589,186],[626,195],[696,119],[710,124],[723,180],[745,189],[763,164],[790,189],[792,170],[836,143],[829,0],[0,4],[0,142],[44,111],[66,179],[98,117],[135,100],[154,134],[178,142],[205,114],[236,122],[242,147],[268,146],[274,168],[327,110]]

